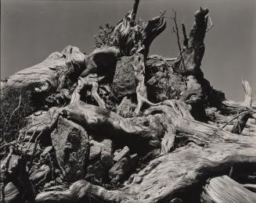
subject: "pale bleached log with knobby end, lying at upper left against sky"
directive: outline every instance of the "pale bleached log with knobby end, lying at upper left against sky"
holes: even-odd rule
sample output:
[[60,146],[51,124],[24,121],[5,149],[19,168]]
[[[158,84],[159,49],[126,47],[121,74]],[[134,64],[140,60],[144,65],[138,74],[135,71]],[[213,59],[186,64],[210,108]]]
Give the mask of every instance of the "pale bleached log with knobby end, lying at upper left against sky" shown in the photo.
[[54,52],[43,62],[20,70],[6,81],[5,88],[22,88],[35,92],[51,92],[65,87],[71,74],[79,76],[85,69],[85,55],[68,46],[62,53]]

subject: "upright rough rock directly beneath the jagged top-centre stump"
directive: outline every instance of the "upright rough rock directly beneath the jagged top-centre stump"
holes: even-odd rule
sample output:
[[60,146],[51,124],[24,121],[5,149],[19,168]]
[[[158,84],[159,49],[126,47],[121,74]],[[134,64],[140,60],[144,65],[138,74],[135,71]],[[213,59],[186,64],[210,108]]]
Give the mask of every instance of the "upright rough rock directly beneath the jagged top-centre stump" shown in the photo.
[[134,56],[123,56],[117,61],[113,92],[118,99],[136,93],[135,73],[132,66]]

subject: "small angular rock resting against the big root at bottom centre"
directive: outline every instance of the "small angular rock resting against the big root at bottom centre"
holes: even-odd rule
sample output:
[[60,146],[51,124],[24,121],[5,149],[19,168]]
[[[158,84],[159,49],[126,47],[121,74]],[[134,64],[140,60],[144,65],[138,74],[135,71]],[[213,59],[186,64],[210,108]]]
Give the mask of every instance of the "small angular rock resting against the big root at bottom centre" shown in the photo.
[[124,157],[119,160],[110,170],[109,175],[112,179],[112,183],[116,183],[117,181],[121,181],[125,176],[128,176],[128,173],[135,166],[135,161],[138,158],[138,155],[131,155],[129,157]]

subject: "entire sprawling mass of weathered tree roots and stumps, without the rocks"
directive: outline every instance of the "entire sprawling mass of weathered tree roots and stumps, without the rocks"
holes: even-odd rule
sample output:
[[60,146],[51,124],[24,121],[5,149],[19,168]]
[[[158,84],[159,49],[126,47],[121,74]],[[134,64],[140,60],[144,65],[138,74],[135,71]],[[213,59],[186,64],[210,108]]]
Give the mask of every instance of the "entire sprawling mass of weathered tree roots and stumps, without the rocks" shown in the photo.
[[[46,131],[50,134],[56,127],[59,114],[62,114],[84,126],[95,137],[103,135],[123,142],[131,151],[141,155],[144,161],[149,157],[154,159],[119,189],[110,191],[85,180],[78,180],[67,191],[45,191],[38,194],[36,202],[168,202],[177,197],[185,198],[194,187],[202,188],[208,178],[225,175],[234,167],[256,166],[256,137],[238,135],[243,133],[243,128],[247,128],[249,119],[256,119],[249,84],[243,81],[246,91],[244,102],[230,102],[211,87],[200,69],[204,55],[204,36],[211,29],[207,28],[207,20],[211,21],[208,9],[200,8],[196,12],[189,37],[186,36],[185,25],[182,25],[184,47],[180,48],[178,58],[159,58],[174,61],[171,68],[174,71],[178,69],[176,73],[190,79],[186,85],[187,90],[179,98],[180,101],[168,100],[153,104],[147,99],[144,59],[153,39],[165,29],[166,22],[163,13],[147,24],[136,23],[138,4],[139,0],[135,0],[132,12],[114,28],[113,38],[110,40],[120,50],[105,47],[84,55],[78,48],[68,46],[61,54],[50,55],[33,69],[16,73],[5,85],[31,89],[38,94],[45,93],[46,98],[55,91],[75,85],[78,80],[78,87],[69,87],[69,94],[74,90],[70,105],[52,108],[46,115],[38,116],[38,125],[34,125],[33,120],[27,133],[32,133],[32,137]],[[137,84],[138,105],[135,114],[142,112],[144,103],[151,106],[140,117],[124,119],[117,113],[108,111],[98,94],[100,85],[112,84],[117,57],[120,55],[138,56],[132,64]],[[33,72],[34,69],[37,71]],[[44,77],[38,80],[38,74]],[[85,86],[92,87],[92,97],[99,107],[81,102],[81,90]],[[189,88],[190,86],[193,88]],[[236,134],[193,119],[189,113],[190,106],[186,104],[198,105],[204,101],[204,94],[207,94],[205,105],[209,102],[223,112],[246,112],[236,123],[232,123],[232,132]],[[218,116],[225,117],[226,120],[226,116]],[[212,123],[216,124],[216,119]],[[27,200],[34,201],[34,190],[26,173],[24,162],[13,180],[20,184],[20,189],[24,190],[20,191],[27,195]]]

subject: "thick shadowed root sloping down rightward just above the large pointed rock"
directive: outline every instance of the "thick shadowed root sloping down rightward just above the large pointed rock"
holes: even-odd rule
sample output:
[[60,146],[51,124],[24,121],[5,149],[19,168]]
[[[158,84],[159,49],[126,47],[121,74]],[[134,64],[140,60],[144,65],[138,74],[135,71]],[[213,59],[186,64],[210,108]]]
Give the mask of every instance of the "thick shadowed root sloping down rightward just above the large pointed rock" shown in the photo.
[[[74,91],[69,107],[64,110],[67,119],[80,123],[85,129],[92,130],[96,134],[101,134],[101,130],[104,129],[105,135],[109,134],[111,137],[121,139],[131,147],[141,148],[142,151],[146,148],[160,149],[160,137],[164,129],[160,125],[160,120],[154,116],[124,119],[115,112],[85,104],[80,98],[79,90]],[[143,125],[141,120],[146,124]]]

